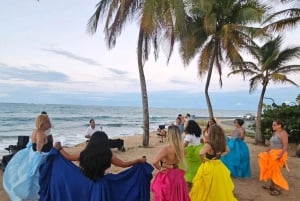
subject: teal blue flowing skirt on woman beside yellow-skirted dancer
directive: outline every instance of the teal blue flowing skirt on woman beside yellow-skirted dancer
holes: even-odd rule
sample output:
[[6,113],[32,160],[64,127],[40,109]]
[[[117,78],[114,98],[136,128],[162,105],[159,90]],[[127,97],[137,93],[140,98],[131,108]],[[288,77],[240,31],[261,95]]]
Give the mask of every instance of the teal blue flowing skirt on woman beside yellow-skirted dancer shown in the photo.
[[221,157],[222,162],[235,178],[251,177],[250,154],[247,144],[238,138],[227,138],[229,153]]

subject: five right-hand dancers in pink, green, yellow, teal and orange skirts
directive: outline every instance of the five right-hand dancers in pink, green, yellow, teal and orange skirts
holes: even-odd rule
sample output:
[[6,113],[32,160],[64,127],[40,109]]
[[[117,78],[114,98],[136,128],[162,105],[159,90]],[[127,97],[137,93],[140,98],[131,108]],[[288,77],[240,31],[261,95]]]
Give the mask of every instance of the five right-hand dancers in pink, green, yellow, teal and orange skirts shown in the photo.
[[[250,153],[244,142],[246,131],[243,124],[242,119],[235,119],[231,136],[226,136],[214,119],[208,121],[202,136],[201,128],[193,120],[185,124],[184,137],[178,137],[181,136],[179,130],[170,126],[168,144],[154,160],[154,166],[159,170],[151,186],[155,200],[237,200],[232,177],[251,177]],[[259,180],[266,182],[263,189],[277,196],[281,189],[288,190],[281,172],[287,167],[288,134],[280,120],[274,120],[272,127],[274,133],[270,147],[258,156]],[[185,169],[185,173],[178,167]],[[176,199],[174,195],[180,196]]]

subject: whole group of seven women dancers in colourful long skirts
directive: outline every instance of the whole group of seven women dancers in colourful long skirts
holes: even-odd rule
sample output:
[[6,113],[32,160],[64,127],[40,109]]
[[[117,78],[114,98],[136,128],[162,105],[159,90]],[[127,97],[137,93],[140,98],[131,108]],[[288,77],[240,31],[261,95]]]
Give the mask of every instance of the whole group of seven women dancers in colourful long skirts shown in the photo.
[[[47,114],[36,118],[36,129],[27,147],[8,163],[3,187],[11,200],[150,200],[157,201],[237,200],[232,177],[249,178],[250,155],[244,142],[243,121],[234,121],[231,137],[214,119],[205,130],[188,120],[182,133],[177,125],[167,128],[167,144],[154,157],[123,161],[112,153],[108,137],[96,131],[80,153],[66,152],[60,142],[49,147]],[[271,195],[279,195],[288,184],[281,174],[287,160],[287,133],[279,120],[266,152],[259,154],[260,180]],[[50,142],[53,143],[53,142]],[[78,166],[71,161],[78,161]],[[111,164],[131,167],[118,174]],[[153,177],[153,169],[156,169]],[[16,171],[18,170],[18,171]]]

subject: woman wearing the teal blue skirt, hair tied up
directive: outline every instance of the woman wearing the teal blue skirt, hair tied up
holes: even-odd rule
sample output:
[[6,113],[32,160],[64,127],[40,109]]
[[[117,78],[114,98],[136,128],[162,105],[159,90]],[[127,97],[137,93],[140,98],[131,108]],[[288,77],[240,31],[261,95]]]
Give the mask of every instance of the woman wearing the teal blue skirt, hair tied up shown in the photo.
[[235,119],[234,129],[231,137],[227,138],[227,145],[230,152],[221,158],[222,162],[231,172],[231,176],[235,178],[250,178],[251,165],[250,153],[248,145],[244,142],[245,128],[243,128],[244,120]]

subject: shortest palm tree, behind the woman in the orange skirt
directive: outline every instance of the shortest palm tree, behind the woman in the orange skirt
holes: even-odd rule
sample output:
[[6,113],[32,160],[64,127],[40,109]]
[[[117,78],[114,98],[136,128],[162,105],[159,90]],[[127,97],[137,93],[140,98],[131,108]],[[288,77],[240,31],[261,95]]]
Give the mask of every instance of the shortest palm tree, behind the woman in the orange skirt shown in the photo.
[[249,80],[250,89],[252,93],[257,89],[259,85],[262,86],[260,99],[257,107],[257,118],[256,118],[256,134],[255,142],[264,143],[264,136],[261,132],[261,115],[263,107],[263,98],[267,89],[268,84],[273,81],[275,84],[278,83],[289,83],[298,86],[297,83],[290,80],[287,75],[300,72],[300,65],[288,65],[294,58],[300,58],[300,47],[285,48],[280,50],[282,44],[281,36],[276,37],[267,41],[261,47],[253,48],[254,57],[257,60],[257,64],[251,61],[244,61],[243,64],[247,66],[243,70],[234,70],[228,74],[244,73],[245,75],[252,76]]

